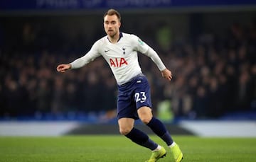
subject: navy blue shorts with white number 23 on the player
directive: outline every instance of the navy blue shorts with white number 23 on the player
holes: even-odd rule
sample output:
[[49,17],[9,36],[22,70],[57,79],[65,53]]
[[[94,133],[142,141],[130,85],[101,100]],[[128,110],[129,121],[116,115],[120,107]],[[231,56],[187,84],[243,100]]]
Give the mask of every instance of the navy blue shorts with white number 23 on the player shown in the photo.
[[152,107],[150,86],[146,76],[139,74],[118,87],[117,118],[139,119],[137,110],[142,106]]

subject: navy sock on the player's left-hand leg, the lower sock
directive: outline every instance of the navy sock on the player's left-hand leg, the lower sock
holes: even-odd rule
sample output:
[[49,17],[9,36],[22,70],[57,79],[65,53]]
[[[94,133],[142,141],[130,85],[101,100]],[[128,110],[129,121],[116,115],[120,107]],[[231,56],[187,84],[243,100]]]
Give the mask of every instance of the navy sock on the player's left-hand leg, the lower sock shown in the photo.
[[149,139],[149,136],[139,129],[132,128],[131,132],[125,135],[127,138],[131,139],[134,143],[139,144],[140,146],[144,146],[151,150],[156,149],[158,144]]

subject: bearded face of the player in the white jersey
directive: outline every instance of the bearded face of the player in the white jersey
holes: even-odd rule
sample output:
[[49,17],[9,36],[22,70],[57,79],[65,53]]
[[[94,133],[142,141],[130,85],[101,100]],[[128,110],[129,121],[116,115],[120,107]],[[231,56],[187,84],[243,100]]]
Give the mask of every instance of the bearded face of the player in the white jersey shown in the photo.
[[116,35],[119,35],[119,28],[121,23],[119,22],[116,15],[112,16],[105,16],[104,18],[104,28],[105,32],[110,37],[115,37]]

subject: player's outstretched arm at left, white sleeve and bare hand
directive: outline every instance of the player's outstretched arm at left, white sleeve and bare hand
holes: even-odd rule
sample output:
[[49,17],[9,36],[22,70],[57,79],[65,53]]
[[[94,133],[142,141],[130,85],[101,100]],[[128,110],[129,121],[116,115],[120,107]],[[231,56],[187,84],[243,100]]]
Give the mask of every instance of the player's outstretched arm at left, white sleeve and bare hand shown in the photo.
[[69,63],[69,64],[59,64],[57,66],[57,71],[59,72],[65,72],[68,69],[78,69],[82,66],[85,66],[85,64],[88,64],[89,62],[92,62],[96,57],[100,56],[99,51],[100,47],[100,41],[95,42],[94,45],[92,45],[92,48],[87,54],[85,54],[83,57],[80,57],[78,59],[75,59],[75,61]]

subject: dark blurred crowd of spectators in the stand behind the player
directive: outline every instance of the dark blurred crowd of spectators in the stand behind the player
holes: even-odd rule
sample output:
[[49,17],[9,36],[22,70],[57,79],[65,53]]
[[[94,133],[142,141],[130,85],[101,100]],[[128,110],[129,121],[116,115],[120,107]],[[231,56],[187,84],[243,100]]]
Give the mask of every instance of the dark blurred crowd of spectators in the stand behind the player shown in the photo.
[[[162,79],[151,59],[139,54],[142,71],[151,84],[155,111],[163,100],[169,100],[176,117],[220,117],[228,112],[256,110],[255,22],[247,28],[234,23],[222,38],[204,33],[174,41],[168,29],[154,30],[163,41],[146,31],[134,34],[153,47],[173,73],[171,82]],[[82,57],[99,35],[72,44],[58,35],[58,30],[48,32],[38,32],[26,23],[16,33],[19,36],[6,40],[9,45],[2,41],[0,117],[90,112],[114,116],[116,81],[102,57],[65,74],[56,71],[58,64]],[[69,50],[61,50],[68,44]],[[84,51],[76,47],[84,47]]]

